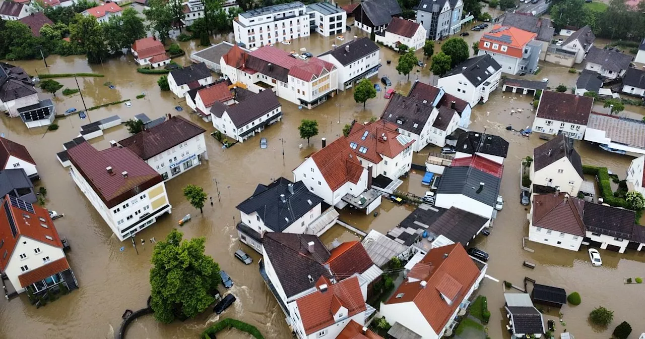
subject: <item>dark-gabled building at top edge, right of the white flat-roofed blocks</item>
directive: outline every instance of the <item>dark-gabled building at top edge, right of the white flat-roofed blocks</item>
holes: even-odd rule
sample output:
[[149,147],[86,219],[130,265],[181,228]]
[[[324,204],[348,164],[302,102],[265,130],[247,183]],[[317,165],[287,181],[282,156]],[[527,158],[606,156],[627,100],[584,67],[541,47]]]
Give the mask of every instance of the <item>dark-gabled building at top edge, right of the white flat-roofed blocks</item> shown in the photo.
[[354,25],[365,32],[383,32],[390,25],[392,17],[401,14],[396,0],[362,1],[354,10]]

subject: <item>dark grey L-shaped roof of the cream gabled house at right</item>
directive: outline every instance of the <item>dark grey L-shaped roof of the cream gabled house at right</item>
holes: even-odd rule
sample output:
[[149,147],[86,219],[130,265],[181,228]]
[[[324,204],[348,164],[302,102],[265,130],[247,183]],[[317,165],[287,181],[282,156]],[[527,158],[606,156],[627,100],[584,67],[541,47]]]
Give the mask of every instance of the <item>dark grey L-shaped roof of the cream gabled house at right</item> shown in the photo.
[[544,169],[551,163],[565,157],[569,159],[571,165],[578,175],[582,178],[582,160],[580,154],[573,149],[573,139],[564,134],[560,134],[546,143],[535,147],[533,150],[533,161],[535,161],[535,170]]

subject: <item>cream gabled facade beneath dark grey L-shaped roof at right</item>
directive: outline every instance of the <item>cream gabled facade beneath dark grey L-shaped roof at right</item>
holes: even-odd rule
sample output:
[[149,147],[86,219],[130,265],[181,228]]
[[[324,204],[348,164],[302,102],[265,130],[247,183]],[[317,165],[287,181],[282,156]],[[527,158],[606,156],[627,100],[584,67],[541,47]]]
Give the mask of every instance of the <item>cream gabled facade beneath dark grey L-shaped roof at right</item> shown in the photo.
[[566,156],[537,171],[535,171],[535,161],[533,161],[529,176],[531,183],[555,187],[560,192],[567,192],[571,196],[578,195],[583,181]]

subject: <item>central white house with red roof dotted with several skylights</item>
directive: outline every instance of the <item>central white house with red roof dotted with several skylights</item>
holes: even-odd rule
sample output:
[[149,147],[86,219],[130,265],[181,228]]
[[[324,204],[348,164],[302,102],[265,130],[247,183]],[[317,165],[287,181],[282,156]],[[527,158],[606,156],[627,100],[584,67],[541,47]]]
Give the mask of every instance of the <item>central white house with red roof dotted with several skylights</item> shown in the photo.
[[372,178],[382,175],[397,180],[412,167],[414,140],[399,134],[397,126],[386,120],[366,125],[353,121],[346,141],[356,152],[362,167],[372,167]]

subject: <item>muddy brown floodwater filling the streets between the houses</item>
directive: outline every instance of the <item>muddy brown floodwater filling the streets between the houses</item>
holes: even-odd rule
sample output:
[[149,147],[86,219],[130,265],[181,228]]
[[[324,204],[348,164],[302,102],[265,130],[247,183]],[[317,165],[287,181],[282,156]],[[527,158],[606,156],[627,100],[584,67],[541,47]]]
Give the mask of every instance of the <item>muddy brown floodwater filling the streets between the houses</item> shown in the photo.
[[[466,28],[467,29],[467,28]],[[475,41],[483,32],[471,32],[468,41]],[[351,39],[354,32],[345,34]],[[223,37],[217,37],[221,40]],[[229,37],[230,38],[230,37]],[[284,49],[299,50],[306,47],[313,54],[323,52],[337,42],[333,37],[322,38],[317,35],[294,40],[290,46],[278,45]],[[194,42],[181,43],[188,54],[195,48]],[[441,45],[437,44],[437,50]],[[421,56],[421,52],[417,53]],[[392,65],[386,65],[386,60],[392,60]],[[411,83],[406,77],[395,71],[397,57],[392,51],[382,50],[382,64],[379,76],[387,75],[392,79],[397,90],[407,92]],[[177,114],[173,107],[184,105],[181,100],[174,98],[170,92],[160,92],[157,87],[159,76],[138,74],[131,57],[111,59],[103,65],[88,65],[84,57],[48,57],[49,69],[43,67],[42,61],[17,61],[15,65],[25,68],[30,74],[67,73],[67,72],[96,72],[105,77],[79,78],[79,86],[83,90],[88,107],[123,99],[132,99],[132,107],[116,105],[89,112],[88,119],[81,120],[78,116],[58,119],[59,130],[46,132],[45,129],[34,128],[27,130],[19,119],[0,119],[0,131],[6,138],[25,145],[38,164],[41,174],[40,185],[48,190],[47,207],[65,214],[64,218],[56,221],[58,231],[68,238],[72,245],[68,259],[79,281],[80,289],[61,300],[50,303],[41,309],[29,305],[23,294],[10,302],[0,300],[0,338],[25,338],[29,333],[31,338],[114,338],[114,331],[121,324],[121,314],[125,309],[139,309],[144,306],[150,294],[148,271],[150,270],[150,255],[152,247],[146,244],[138,245],[139,254],[129,242],[120,242],[83,194],[75,187],[74,182],[63,169],[57,159],[56,152],[62,150],[62,143],[78,135],[79,127],[90,121],[119,114],[122,119],[129,119],[135,114],[145,113],[150,118],[158,118],[164,114]],[[188,57],[182,57],[180,63],[188,63]],[[575,83],[575,76],[566,72],[566,68],[543,65],[540,78],[548,76],[554,82],[564,82],[569,86]],[[421,72],[413,71],[410,80],[432,81],[427,68]],[[74,79],[59,79],[66,87],[75,87]],[[110,89],[104,83],[110,81],[115,89]],[[373,82],[377,78],[372,79]],[[135,99],[137,94],[146,94],[144,99]],[[43,96],[47,96],[43,94]],[[81,109],[83,104],[79,95],[63,97],[61,94],[54,99],[57,110],[63,111],[70,107]],[[505,130],[507,125],[519,129],[531,124],[533,110],[531,98],[521,98],[515,94],[495,92],[486,105],[478,105],[473,109],[473,130],[484,130],[499,134],[510,141],[511,146],[506,168],[502,178],[501,194],[506,198],[504,211],[499,213],[492,233],[488,238],[477,240],[477,246],[488,251],[491,256],[488,274],[499,280],[510,280],[520,284],[524,276],[529,276],[540,283],[564,287],[568,292],[578,291],[582,295],[582,304],[578,307],[565,305],[562,309],[567,328],[578,338],[606,338],[609,334],[599,329],[592,329],[587,322],[587,314],[597,305],[604,305],[615,311],[615,323],[626,320],[634,327],[634,333],[645,331],[643,325],[642,304],[645,301],[640,285],[622,285],[623,276],[645,275],[645,253],[630,251],[626,254],[602,251],[604,266],[592,268],[587,260],[585,251],[570,252],[553,247],[531,243],[535,249],[531,254],[522,251],[521,238],[527,233],[526,209],[519,204],[519,161],[532,153],[533,147],[541,144],[537,136],[524,138]],[[165,238],[166,234],[177,227],[177,220],[185,214],[194,218],[181,227],[185,238],[204,236],[206,238],[206,254],[213,256],[219,262],[221,269],[227,271],[235,281],[230,293],[237,296],[237,302],[223,314],[225,317],[239,318],[257,326],[267,338],[289,338],[290,332],[284,322],[284,316],[275,299],[266,289],[257,265],[243,265],[233,259],[233,252],[244,249],[255,262],[259,255],[241,245],[237,240],[235,220],[239,212],[235,205],[252,194],[257,183],[268,183],[279,176],[292,178],[291,170],[303,158],[320,147],[320,138],[335,139],[342,133],[342,126],[353,119],[366,121],[370,116],[380,116],[386,105],[382,93],[368,101],[363,109],[353,101],[352,92],[341,93],[339,96],[317,107],[314,110],[298,110],[296,105],[283,101],[284,117],[281,123],[267,128],[261,136],[268,139],[268,149],[259,148],[259,138],[252,138],[231,149],[221,149],[215,140],[207,143],[210,160],[204,161],[201,167],[190,171],[190,174],[179,176],[166,183],[173,214],[165,216],[155,223],[154,227],[145,229],[137,234],[137,238],[157,240]],[[521,113],[511,116],[511,110],[521,108]],[[635,112],[635,114],[642,112]],[[213,127],[204,123],[188,110],[179,113],[212,132]],[[340,123],[339,121],[340,116]],[[312,145],[300,139],[297,126],[303,118],[319,121],[319,136],[312,139]],[[106,131],[103,137],[92,139],[98,149],[108,147],[111,139],[120,140],[128,136],[124,127],[115,127]],[[210,137],[208,137],[210,139]],[[284,138],[284,159],[281,154],[281,141]],[[302,147],[300,147],[302,145]],[[585,143],[577,143],[584,163],[604,165],[610,170],[624,176],[631,158],[603,152],[597,147]],[[423,163],[428,152],[415,154],[415,163]],[[436,149],[434,149],[436,151]],[[422,173],[412,173],[402,188],[412,192],[423,192],[421,187]],[[215,184],[217,180],[217,185]],[[188,183],[204,187],[213,197],[214,207],[206,206],[204,214],[199,215],[185,201],[181,188]],[[219,197],[216,187],[219,187]],[[220,201],[221,200],[221,201]],[[341,218],[361,229],[377,229],[386,232],[405,218],[412,207],[393,205],[384,201],[377,210],[379,215],[366,216],[341,211]],[[353,240],[357,237],[342,228],[333,228],[323,236],[325,243],[334,239]],[[121,247],[124,250],[121,251]],[[522,261],[537,263],[535,270],[522,268]],[[491,338],[508,338],[504,329],[504,314],[502,314],[503,296],[502,284],[486,280],[480,293],[488,296],[491,309],[489,332]],[[557,313],[551,315],[557,316]],[[170,325],[157,324],[152,316],[140,318],[130,326],[128,338],[195,338],[205,327],[216,322],[219,316],[208,311],[194,320],[175,322]],[[562,326],[558,326],[559,331]],[[223,333],[221,338],[240,338],[239,333]]]

